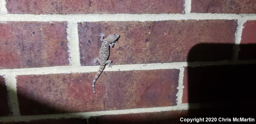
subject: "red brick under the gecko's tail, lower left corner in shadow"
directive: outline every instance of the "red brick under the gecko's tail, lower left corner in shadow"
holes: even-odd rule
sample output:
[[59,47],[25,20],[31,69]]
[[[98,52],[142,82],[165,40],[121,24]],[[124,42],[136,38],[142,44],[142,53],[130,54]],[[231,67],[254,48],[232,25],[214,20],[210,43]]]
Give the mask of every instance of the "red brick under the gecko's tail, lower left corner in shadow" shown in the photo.
[[90,112],[176,105],[179,70],[19,75],[21,115]]

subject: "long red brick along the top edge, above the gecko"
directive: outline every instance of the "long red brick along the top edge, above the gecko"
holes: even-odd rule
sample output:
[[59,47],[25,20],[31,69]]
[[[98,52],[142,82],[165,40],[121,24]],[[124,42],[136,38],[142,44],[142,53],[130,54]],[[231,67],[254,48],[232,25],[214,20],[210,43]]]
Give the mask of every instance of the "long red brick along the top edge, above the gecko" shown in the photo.
[[6,0],[13,14],[113,14],[113,13],[182,13],[183,0]]

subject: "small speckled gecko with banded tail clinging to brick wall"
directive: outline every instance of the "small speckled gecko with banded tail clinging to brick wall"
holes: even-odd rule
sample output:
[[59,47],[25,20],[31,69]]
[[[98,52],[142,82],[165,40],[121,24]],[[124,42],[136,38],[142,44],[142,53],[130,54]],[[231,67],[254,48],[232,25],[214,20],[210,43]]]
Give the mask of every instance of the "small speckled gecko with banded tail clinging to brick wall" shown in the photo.
[[94,95],[96,95],[95,92],[95,82],[97,81],[97,79],[99,78],[100,74],[102,73],[102,71],[104,70],[105,66],[108,65],[108,67],[112,67],[113,62],[112,60],[108,60],[109,57],[109,47],[113,47],[117,41],[117,39],[120,37],[120,35],[118,34],[111,34],[108,35],[107,38],[103,39],[103,37],[105,33],[100,33],[100,41],[103,41],[103,43],[101,44],[100,47],[100,58],[95,58],[93,59],[93,61],[91,63],[94,63],[94,65],[97,62],[100,62],[100,68],[97,72],[97,74],[95,75],[93,81],[92,81],[92,89],[93,89],[93,93]]

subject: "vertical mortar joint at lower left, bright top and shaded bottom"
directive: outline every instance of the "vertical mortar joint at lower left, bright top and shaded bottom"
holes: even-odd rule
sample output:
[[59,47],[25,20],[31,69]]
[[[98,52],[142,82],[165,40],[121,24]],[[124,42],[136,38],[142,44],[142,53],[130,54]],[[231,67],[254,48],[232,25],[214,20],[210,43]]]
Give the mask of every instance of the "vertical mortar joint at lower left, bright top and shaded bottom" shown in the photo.
[[20,115],[19,102],[17,96],[16,75],[9,73],[4,75],[6,88],[8,92],[8,102],[13,116]]

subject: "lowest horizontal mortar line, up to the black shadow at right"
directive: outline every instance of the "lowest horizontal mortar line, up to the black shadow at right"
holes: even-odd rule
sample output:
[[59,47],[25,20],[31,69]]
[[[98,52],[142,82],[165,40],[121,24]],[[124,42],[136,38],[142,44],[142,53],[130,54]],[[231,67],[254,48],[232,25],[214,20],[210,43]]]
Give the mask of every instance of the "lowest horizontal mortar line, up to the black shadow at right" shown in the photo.
[[30,121],[30,120],[38,120],[38,119],[60,119],[60,118],[85,118],[85,119],[89,119],[92,116],[100,116],[100,115],[118,115],[118,114],[130,114],[130,113],[188,110],[188,107],[189,107],[188,104],[180,104],[180,105],[176,105],[176,106],[152,107],[152,108],[135,108],[135,109],[97,111],[97,112],[79,112],[79,113],[61,113],[61,114],[47,114],[47,115],[25,115],[25,116],[20,116],[20,115],[19,116],[6,116],[6,117],[0,117],[0,122],[15,122],[15,121]]

